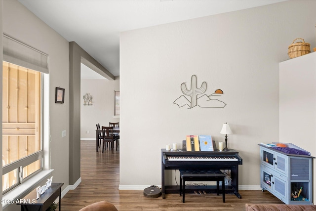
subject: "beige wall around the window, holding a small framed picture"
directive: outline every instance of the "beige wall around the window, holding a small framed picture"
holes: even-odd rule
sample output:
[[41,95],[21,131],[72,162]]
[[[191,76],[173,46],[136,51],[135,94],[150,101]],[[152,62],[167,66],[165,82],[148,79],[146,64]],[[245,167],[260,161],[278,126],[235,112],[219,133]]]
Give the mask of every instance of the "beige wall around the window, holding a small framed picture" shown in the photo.
[[[63,191],[69,185],[69,42],[16,0],[3,1],[3,33],[49,56],[51,168]],[[64,104],[55,104],[57,86],[65,88]]]

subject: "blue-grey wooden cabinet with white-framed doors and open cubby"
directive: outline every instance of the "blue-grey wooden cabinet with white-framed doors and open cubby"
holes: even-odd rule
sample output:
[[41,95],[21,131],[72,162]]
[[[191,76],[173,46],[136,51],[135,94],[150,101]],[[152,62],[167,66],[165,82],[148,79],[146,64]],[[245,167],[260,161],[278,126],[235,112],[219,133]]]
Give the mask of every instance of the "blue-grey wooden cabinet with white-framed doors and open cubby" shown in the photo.
[[260,146],[260,186],[287,205],[313,204],[313,158]]

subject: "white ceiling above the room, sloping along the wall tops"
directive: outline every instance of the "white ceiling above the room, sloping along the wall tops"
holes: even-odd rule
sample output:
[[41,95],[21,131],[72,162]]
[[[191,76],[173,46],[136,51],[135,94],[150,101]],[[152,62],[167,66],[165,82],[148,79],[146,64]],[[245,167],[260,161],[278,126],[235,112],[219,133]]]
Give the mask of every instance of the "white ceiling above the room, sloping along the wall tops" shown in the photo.
[[[114,76],[119,76],[120,32],[280,1],[284,0],[19,0]],[[101,77],[90,71],[81,69],[85,77]]]

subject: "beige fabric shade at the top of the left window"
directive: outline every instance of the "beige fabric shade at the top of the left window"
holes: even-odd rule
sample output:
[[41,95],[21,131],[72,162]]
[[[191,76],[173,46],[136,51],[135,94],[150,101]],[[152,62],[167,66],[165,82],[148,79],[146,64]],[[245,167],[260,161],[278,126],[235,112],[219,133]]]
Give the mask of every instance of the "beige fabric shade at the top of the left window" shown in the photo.
[[48,55],[3,35],[3,61],[48,74]]

